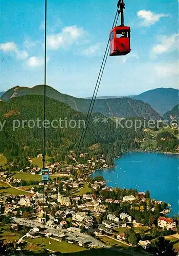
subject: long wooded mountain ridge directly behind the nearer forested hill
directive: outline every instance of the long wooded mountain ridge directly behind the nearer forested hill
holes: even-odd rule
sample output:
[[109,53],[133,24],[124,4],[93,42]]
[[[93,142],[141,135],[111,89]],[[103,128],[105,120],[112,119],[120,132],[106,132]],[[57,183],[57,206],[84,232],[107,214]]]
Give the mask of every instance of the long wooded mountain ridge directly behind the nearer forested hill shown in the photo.
[[[66,103],[78,112],[86,113],[91,102],[89,99],[75,98],[70,95],[59,93],[50,86],[47,86],[46,93],[48,97]],[[8,90],[1,99],[2,101],[9,101],[12,98],[24,95],[43,95],[43,85],[38,85],[33,88],[14,87]],[[160,115],[154,111],[149,104],[141,100],[126,97],[96,99],[93,112],[113,117],[142,117],[154,120],[160,119]]]

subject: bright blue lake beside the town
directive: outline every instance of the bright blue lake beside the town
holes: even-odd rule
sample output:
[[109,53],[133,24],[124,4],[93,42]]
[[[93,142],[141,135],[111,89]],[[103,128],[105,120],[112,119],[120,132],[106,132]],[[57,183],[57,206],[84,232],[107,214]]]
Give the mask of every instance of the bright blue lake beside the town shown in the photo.
[[170,215],[178,214],[178,155],[129,152],[115,160],[115,168],[96,170],[107,186],[150,191],[150,197],[172,205]]

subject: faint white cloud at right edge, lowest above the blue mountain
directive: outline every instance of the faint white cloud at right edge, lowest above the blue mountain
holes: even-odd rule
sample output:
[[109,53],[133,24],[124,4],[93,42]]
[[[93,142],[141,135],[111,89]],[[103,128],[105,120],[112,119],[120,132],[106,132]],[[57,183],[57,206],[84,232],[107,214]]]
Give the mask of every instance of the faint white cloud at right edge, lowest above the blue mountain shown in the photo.
[[159,77],[178,76],[178,63],[155,65],[154,71]]

